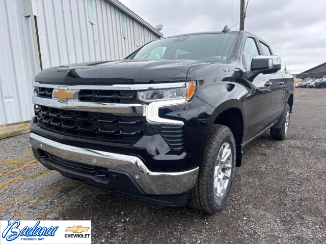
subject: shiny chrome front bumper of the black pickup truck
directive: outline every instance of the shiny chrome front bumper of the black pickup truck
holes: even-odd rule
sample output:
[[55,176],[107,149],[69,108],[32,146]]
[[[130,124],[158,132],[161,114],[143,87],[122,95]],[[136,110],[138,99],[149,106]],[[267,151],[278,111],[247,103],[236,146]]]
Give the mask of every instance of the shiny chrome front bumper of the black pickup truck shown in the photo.
[[141,159],[134,156],[107,153],[106,151],[70,146],[30,134],[33,147],[71,161],[104,167],[128,173],[146,194],[180,194],[192,189],[199,168],[181,172],[152,172]]

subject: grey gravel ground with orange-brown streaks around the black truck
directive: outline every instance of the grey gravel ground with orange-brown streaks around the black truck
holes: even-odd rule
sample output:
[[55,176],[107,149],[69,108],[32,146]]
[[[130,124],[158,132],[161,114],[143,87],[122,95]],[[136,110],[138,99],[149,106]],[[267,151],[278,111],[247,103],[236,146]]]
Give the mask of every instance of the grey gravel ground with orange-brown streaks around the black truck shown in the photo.
[[226,207],[205,215],[48,171],[28,135],[0,140],[1,220],[92,220],[93,243],[326,243],[326,89],[295,89],[290,136],[244,149]]

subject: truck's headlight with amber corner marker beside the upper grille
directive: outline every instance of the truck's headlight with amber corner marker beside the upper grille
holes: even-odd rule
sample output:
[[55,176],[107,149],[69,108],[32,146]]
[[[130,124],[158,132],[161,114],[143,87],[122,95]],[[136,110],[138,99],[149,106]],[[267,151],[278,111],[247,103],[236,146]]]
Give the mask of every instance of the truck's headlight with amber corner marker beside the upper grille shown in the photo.
[[195,89],[196,81],[188,81],[183,87],[152,89],[138,92],[138,99],[145,103],[175,99],[189,100],[193,97]]

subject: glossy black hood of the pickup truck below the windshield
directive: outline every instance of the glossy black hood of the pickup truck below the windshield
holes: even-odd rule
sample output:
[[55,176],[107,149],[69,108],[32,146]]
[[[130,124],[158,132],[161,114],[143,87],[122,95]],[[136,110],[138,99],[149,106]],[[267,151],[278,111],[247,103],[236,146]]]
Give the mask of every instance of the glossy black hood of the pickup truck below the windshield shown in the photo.
[[195,60],[118,60],[57,66],[41,71],[35,80],[53,84],[134,84],[184,81]]

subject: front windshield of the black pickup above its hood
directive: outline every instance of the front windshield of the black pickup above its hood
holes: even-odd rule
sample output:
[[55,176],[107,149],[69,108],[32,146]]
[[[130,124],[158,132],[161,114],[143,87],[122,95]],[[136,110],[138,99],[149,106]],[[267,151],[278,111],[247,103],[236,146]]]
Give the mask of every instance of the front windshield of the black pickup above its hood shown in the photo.
[[233,54],[236,36],[236,33],[214,33],[159,39],[143,46],[128,59],[224,62]]

